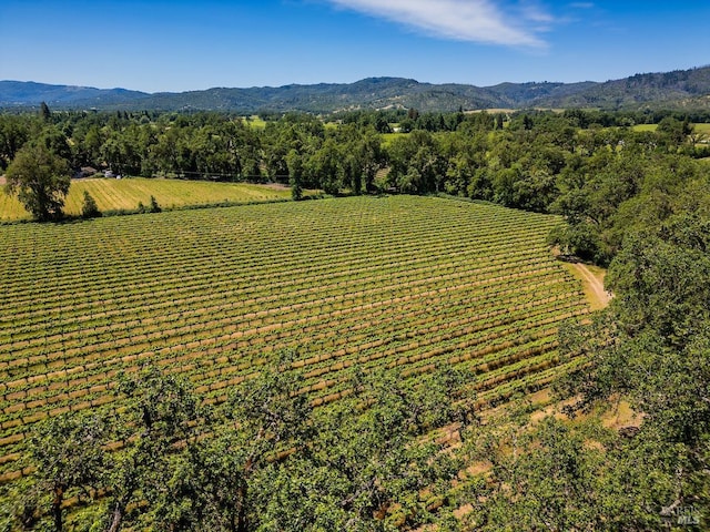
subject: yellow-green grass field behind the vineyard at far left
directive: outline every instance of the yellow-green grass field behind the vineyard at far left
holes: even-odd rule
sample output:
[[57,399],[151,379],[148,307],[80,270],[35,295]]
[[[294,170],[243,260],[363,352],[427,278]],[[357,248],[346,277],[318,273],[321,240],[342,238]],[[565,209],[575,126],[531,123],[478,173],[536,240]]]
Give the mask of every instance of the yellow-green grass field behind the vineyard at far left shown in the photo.
[[[81,213],[84,191],[89,191],[102,212],[134,209],[139,202],[149,205],[151,196],[155,196],[158,204],[163,208],[220,202],[251,203],[291,198],[291,190],[287,187],[248,183],[210,183],[144,177],[74,180],[64,205],[67,214],[78,215]],[[0,221],[30,218],[31,216],[24,211],[24,207],[14,197],[4,194],[0,187]]]

